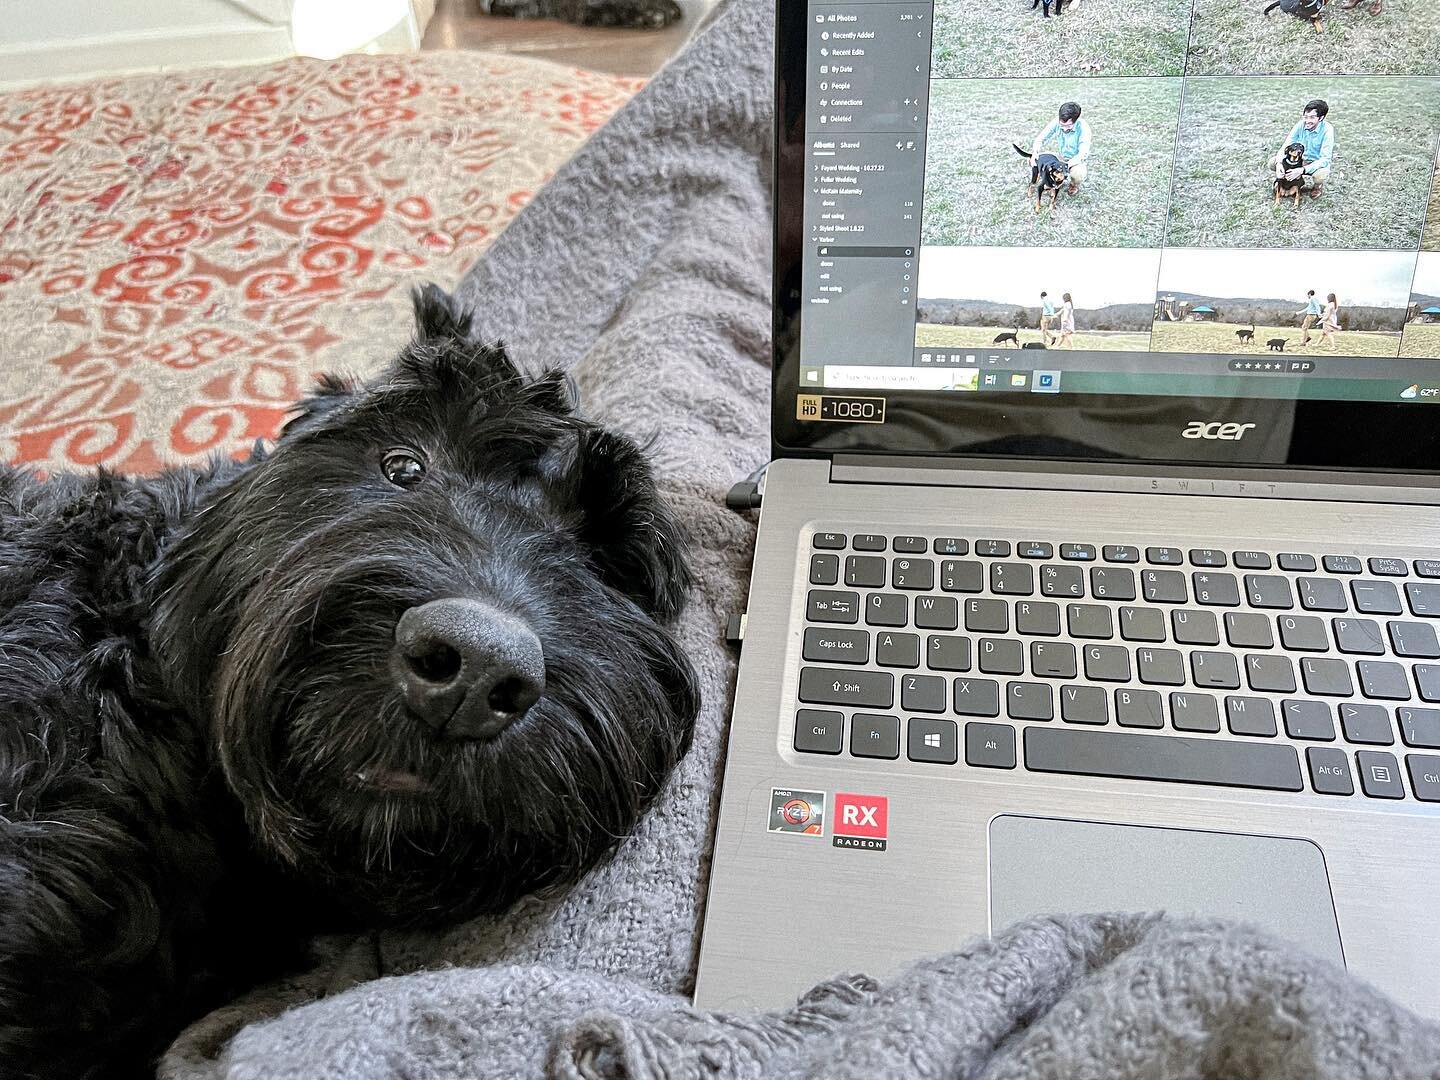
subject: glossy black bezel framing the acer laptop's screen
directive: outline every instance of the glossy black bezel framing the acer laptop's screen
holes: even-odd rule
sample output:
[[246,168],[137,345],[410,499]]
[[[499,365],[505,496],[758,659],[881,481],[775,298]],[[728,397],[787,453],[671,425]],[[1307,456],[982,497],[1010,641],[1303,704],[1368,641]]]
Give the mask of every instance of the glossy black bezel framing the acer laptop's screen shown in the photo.
[[[1176,397],[1146,395],[945,393],[937,390],[815,390],[801,386],[801,271],[805,251],[805,0],[778,0],[775,35],[775,206],[773,206],[773,456],[904,454],[1032,459],[1103,459],[1129,464],[1224,464],[1303,469],[1440,474],[1440,405],[1276,397]],[[1424,361],[1418,361],[1424,363]],[[1440,372],[1440,361],[1437,372]],[[801,420],[801,393],[881,396],[886,422]],[[1200,420],[1240,419],[1259,431],[1292,431],[1282,451],[1273,439],[1187,441],[1136,425],[1143,403],[1184,410]],[[994,418],[1022,412],[1063,429],[1067,415],[1084,415],[1084,442],[1037,435],[1001,438]],[[904,445],[887,439],[904,431]],[[1257,452],[1257,448],[1259,449]]]

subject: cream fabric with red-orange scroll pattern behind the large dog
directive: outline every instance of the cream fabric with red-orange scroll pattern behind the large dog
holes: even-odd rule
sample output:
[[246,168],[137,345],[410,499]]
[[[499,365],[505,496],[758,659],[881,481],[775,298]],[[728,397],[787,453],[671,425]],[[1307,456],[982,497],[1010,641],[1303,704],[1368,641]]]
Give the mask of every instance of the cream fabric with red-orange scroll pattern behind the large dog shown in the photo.
[[0,459],[148,472],[274,436],[639,85],[439,52],[0,94]]

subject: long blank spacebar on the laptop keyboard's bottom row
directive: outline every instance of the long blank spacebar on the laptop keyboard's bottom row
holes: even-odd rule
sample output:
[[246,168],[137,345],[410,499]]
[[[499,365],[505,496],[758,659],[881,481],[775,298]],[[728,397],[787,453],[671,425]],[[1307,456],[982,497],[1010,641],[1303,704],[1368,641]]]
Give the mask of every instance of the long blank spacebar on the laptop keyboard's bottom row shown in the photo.
[[1300,782],[1300,759],[1293,746],[1169,734],[1104,734],[1027,727],[1025,766],[1034,772],[1214,783],[1224,788],[1302,791],[1305,786]]

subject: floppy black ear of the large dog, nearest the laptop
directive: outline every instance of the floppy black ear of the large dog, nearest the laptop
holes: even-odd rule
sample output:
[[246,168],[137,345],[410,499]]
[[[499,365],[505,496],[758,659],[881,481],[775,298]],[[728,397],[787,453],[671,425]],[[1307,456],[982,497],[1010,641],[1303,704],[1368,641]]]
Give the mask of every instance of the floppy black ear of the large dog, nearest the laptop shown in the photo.
[[674,619],[690,595],[684,539],[655,490],[645,454],[622,435],[588,428],[576,451],[576,494],[585,514],[580,539],[600,577],[661,621]]

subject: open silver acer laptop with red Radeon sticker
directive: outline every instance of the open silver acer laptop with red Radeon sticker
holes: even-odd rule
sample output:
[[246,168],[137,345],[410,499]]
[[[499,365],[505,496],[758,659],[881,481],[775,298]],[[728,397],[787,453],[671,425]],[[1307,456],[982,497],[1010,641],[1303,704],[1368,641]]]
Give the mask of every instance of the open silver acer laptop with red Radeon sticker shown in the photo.
[[779,3],[697,1004],[1165,910],[1440,1017],[1436,60],[1011,4]]

